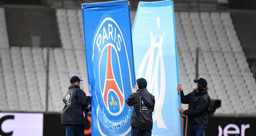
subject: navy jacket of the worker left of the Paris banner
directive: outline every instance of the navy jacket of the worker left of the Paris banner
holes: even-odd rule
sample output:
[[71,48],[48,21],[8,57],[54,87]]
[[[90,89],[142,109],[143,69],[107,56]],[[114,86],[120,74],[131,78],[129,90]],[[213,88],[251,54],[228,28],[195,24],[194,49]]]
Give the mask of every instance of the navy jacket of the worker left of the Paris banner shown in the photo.
[[63,98],[65,106],[61,113],[61,124],[88,124],[86,108],[92,98],[87,97],[77,85],[71,85],[68,89]]

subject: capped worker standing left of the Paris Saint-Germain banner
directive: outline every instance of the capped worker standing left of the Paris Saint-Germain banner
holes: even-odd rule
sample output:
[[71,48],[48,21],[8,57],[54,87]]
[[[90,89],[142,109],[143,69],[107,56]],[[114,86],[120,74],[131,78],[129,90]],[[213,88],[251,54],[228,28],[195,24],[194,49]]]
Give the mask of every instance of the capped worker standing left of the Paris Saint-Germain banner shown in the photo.
[[84,127],[88,124],[87,106],[91,104],[92,94],[88,97],[84,91],[80,89],[80,81],[78,76],[72,76],[70,79],[71,86],[63,98],[65,106],[61,113],[61,125],[66,127],[66,136],[83,136]]

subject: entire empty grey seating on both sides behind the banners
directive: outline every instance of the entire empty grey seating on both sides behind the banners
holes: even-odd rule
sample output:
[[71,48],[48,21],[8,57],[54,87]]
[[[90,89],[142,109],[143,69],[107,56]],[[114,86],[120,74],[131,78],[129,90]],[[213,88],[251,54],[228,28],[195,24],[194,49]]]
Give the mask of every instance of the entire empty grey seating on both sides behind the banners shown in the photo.
[[[0,22],[4,18],[0,9]],[[131,14],[135,16],[134,12]],[[11,47],[6,26],[0,23],[6,45],[0,45],[0,107],[2,111],[45,111],[49,82],[49,111],[61,112],[70,77],[84,81],[88,95],[81,10],[57,9],[61,48]],[[4,21],[5,22],[5,21]],[[199,77],[208,81],[209,95],[221,99],[217,114],[255,114],[256,83],[228,12],[175,12],[180,83],[185,94],[193,91],[196,48]],[[5,29],[4,29],[5,28]],[[4,30],[2,32],[2,30]],[[5,32],[5,33],[4,33]],[[3,40],[1,38],[1,40]],[[2,41],[0,41],[2,43]],[[49,79],[46,79],[47,51]],[[187,105],[183,104],[186,109]]]

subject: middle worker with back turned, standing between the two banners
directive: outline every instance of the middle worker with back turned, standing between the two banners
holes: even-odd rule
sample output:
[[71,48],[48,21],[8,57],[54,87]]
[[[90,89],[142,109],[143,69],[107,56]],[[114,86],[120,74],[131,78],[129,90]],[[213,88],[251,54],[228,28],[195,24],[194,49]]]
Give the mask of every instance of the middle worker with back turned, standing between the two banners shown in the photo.
[[130,123],[132,136],[151,136],[155,97],[148,92],[144,78],[139,78],[136,82],[138,90],[133,89],[132,95],[125,101],[129,106],[134,106]]

